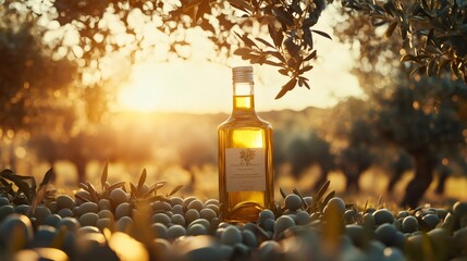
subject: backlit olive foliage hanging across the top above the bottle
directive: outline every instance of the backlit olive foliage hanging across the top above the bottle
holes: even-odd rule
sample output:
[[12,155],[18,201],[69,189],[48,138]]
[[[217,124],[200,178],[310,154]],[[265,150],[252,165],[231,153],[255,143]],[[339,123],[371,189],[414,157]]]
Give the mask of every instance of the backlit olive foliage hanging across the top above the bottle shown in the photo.
[[[57,0],[53,7],[56,21],[62,26],[72,24],[78,32],[81,55],[77,58],[85,64],[125,49],[135,61],[144,49],[145,37],[140,28],[132,24],[132,18],[139,16],[146,23],[160,20],[156,25],[159,32],[181,35],[172,37],[171,52],[181,54],[180,50],[191,44],[183,36],[185,32],[199,27],[214,44],[214,51],[223,55],[237,54],[254,64],[278,66],[280,74],[291,78],[278,94],[278,99],[296,85],[309,88],[303,74],[312,69],[309,61],[317,57],[314,35],[331,38],[312,28],[325,7],[324,1],[195,0],[173,3],[157,0],[122,3]],[[122,35],[128,36],[128,41],[119,42],[111,26],[98,23],[106,15],[115,17],[124,26]],[[267,27],[268,38],[251,36],[253,28],[258,25]],[[232,50],[235,51],[232,53]]]

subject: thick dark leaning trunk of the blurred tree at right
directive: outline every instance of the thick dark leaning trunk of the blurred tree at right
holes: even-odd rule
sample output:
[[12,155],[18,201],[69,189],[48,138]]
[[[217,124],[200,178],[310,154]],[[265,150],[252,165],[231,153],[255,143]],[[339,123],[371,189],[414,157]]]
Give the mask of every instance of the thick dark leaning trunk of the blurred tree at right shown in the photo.
[[415,154],[415,176],[408,183],[402,207],[415,209],[418,207],[425,191],[433,181],[434,160],[429,153]]

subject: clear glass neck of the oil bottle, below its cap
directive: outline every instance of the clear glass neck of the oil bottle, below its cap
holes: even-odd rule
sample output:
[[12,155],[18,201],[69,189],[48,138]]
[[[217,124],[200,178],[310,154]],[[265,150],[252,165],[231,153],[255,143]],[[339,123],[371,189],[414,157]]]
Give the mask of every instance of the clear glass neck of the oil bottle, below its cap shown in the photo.
[[253,83],[233,84],[233,111],[232,114],[255,113],[255,96]]

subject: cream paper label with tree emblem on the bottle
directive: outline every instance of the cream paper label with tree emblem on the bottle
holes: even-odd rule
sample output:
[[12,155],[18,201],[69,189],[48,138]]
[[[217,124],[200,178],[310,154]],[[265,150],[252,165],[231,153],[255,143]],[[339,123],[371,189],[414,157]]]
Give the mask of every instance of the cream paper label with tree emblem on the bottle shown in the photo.
[[265,191],[265,149],[225,149],[225,178],[228,191]]

